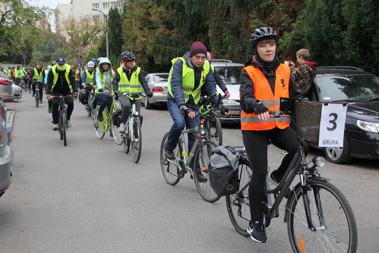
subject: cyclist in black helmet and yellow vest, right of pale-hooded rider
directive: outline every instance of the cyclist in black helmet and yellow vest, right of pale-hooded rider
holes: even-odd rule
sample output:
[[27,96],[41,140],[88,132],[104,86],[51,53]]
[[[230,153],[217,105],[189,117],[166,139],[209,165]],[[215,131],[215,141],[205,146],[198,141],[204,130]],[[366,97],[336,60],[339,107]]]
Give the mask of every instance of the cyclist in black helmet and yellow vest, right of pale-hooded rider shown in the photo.
[[[133,53],[128,51],[121,53],[121,64],[117,68],[112,82],[114,94],[118,96],[118,101],[120,102],[122,108],[121,124],[119,127],[120,132],[125,131],[125,124],[128,120],[130,110],[129,98],[126,96],[121,96],[121,93],[140,93],[143,88],[149,98],[153,96],[153,92],[150,91],[141,68],[137,67],[135,60],[136,57]],[[136,101],[136,111],[138,113],[141,111],[141,99]]]

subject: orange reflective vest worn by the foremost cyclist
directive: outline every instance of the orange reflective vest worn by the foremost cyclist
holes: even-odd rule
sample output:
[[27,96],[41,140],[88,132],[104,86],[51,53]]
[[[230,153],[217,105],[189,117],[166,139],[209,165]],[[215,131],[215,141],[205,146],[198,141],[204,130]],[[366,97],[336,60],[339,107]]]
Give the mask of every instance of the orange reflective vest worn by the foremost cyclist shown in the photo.
[[[279,111],[280,97],[289,97],[288,85],[291,71],[287,65],[280,64],[275,70],[275,95],[272,94],[269,82],[265,74],[254,66],[245,67],[246,72],[254,83],[254,95],[257,100],[264,102],[264,105],[271,111]],[[242,130],[269,130],[275,126],[284,129],[289,126],[290,120],[287,117],[270,118],[268,122],[258,119],[258,115],[254,113],[241,113],[241,129]]]

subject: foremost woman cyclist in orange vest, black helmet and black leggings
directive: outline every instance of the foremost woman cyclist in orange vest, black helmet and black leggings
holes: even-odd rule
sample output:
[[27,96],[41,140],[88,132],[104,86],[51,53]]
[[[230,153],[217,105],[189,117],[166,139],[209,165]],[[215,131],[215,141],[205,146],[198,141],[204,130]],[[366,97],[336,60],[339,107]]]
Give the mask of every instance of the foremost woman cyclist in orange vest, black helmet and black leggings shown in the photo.
[[[249,185],[251,220],[247,232],[259,243],[267,241],[261,217],[268,166],[267,136],[276,147],[288,151],[279,168],[271,173],[271,183],[280,182],[297,151],[297,136],[289,127],[289,119],[276,120],[269,116],[269,110],[279,110],[280,97],[301,97],[289,67],[279,63],[277,41],[278,36],[271,27],[256,29],[250,37],[256,55],[245,63],[240,77],[242,140],[253,171]],[[304,148],[307,154],[307,146]]]

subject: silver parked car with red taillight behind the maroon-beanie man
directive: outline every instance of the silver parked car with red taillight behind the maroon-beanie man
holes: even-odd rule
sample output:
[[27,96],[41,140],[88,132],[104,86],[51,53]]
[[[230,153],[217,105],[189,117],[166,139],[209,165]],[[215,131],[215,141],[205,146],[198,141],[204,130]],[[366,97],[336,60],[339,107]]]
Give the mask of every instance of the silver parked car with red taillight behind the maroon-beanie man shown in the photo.
[[141,103],[146,109],[152,109],[153,105],[163,105],[167,103],[167,80],[169,73],[150,73],[145,76],[145,80],[153,92],[151,98],[142,97]]

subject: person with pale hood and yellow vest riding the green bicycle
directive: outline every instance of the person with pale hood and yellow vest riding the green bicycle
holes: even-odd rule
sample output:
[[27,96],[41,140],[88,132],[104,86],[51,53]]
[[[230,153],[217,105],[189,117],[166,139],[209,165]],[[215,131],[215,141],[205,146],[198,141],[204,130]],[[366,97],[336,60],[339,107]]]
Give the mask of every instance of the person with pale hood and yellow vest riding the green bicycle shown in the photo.
[[[96,89],[95,89],[95,99],[100,102],[99,114],[97,115],[98,121],[104,121],[103,111],[108,107],[108,112],[112,107],[113,97],[112,97],[112,80],[114,77],[114,71],[111,69],[111,64],[108,58],[102,58],[99,62],[99,67],[96,72]],[[104,94],[101,94],[104,91]]]

